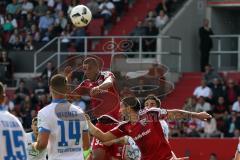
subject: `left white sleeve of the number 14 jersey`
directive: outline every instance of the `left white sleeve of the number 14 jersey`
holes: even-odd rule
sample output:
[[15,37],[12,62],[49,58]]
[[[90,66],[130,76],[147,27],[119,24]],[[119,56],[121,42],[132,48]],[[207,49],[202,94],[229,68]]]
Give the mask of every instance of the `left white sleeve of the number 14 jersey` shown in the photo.
[[43,112],[38,112],[38,132],[51,132],[49,119]]

